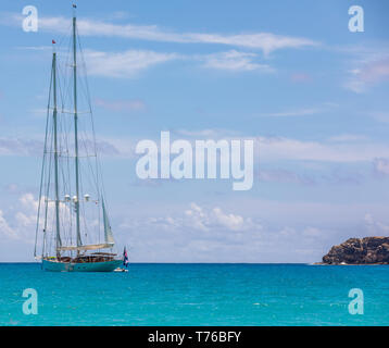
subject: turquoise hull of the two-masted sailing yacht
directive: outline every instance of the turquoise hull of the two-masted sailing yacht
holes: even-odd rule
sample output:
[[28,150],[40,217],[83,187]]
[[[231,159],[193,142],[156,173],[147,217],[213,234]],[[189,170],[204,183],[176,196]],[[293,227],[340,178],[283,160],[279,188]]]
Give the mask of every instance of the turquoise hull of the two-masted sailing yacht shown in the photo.
[[49,272],[112,272],[122,263],[122,260],[85,263],[42,260],[42,269]]

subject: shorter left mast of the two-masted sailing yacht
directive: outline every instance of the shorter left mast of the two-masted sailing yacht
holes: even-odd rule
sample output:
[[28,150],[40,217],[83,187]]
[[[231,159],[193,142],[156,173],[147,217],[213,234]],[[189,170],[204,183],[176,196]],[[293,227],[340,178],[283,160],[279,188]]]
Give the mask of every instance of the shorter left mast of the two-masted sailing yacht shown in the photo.
[[55,176],[55,247],[57,247],[57,257],[60,257],[60,247],[61,247],[61,235],[60,235],[60,192],[58,184],[58,137],[57,137],[57,53],[52,53],[52,74],[53,74],[53,126],[54,126],[54,176]]

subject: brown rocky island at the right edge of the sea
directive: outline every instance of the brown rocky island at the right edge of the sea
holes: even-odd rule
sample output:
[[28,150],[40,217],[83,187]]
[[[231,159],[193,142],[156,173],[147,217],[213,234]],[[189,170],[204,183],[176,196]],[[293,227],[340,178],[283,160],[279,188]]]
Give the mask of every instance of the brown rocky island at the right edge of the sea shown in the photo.
[[334,246],[321,264],[389,264],[389,237],[350,238]]

